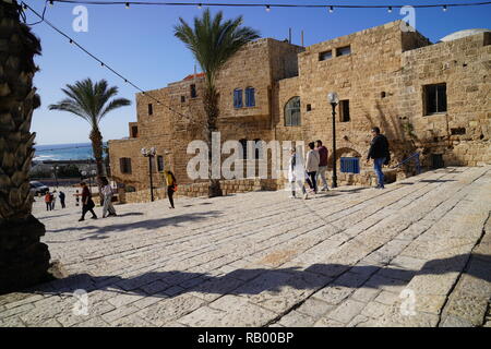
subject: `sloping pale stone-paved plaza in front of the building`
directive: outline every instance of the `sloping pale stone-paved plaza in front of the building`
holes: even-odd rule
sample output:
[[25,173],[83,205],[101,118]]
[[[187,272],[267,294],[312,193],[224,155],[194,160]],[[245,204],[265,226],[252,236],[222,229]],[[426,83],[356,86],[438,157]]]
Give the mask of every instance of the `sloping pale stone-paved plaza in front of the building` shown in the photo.
[[490,166],[287,196],[127,204],[82,222],[71,202],[36,202],[70,276],[0,296],[0,326],[491,326]]

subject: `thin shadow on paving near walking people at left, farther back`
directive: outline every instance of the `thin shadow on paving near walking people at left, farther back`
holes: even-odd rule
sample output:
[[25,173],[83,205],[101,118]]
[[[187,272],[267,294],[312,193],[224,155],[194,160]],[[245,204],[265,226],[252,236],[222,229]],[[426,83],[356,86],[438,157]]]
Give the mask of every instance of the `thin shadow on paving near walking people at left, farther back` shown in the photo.
[[[208,210],[201,213],[190,213],[183,215],[177,215],[171,217],[156,218],[156,219],[145,219],[132,222],[123,222],[123,224],[112,224],[106,226],[82,226],[82,227],[71,227],[65,229],[56,229],[56,230],[47,230],[49,232],[64,232],[64,231],[76,231],[76,230],[91,230],[87,231],[89,234],[99,234],[107,232],[120,232],[132,229],[146,229],[154,230],[166,226],[179,227],[183,222],[189,221],[199,221],[209,217],[218,217],[221,215],[220,210]],[[115,219],[116,222],[118,217],[112,217],[110,219]],[[109,218],[106,218],[109,219]]]

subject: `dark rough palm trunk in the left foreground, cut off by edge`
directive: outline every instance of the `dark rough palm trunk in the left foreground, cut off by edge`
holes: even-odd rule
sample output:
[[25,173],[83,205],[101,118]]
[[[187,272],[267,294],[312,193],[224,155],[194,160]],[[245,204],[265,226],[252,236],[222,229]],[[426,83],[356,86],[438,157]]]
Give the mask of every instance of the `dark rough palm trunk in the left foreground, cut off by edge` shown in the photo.
[[20,21],[15,0],[0,1],[0,293],[48,278],[49,251],[40,242],[45,226],[32,215],[28,171],[34,155],[33,87],[39,39]]

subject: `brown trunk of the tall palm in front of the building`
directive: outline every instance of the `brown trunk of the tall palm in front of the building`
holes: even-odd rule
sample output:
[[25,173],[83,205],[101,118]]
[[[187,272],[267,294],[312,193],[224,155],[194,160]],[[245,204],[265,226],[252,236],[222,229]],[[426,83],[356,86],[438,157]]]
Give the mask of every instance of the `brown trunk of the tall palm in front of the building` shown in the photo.
[[218,94],[213,86],[208,86],[204,94],[204,108],[207,117],[206,143],[208,145],[208,197],[223,196],[219,179],[212,178],[212,133],[217,131],[217,120],[219,116]]

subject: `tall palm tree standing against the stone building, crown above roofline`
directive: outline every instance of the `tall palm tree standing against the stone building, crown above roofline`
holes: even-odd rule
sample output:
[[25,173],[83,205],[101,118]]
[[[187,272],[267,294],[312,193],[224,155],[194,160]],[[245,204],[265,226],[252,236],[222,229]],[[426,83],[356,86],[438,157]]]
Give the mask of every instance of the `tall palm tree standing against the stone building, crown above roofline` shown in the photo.
[[[212,132],[217,130],[218,92],[216,79],[224,64],[246,44],[259,38],[259,32],[242,27],[242,16],[221,22],[223,13],[218,12],[212,19],[209,9],[203,16],[194,17],[194,28],[179,17],[179,25],[173,27],[175,36],[191,50],[201,69],[205,73],[205,91],[203,104],[206,113],[206,142],[208,144],[208,160],[212,164]],[[208,176],[211,185],[208,196],[221,196],[218,179],[212,179],[209,166]]]

